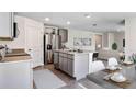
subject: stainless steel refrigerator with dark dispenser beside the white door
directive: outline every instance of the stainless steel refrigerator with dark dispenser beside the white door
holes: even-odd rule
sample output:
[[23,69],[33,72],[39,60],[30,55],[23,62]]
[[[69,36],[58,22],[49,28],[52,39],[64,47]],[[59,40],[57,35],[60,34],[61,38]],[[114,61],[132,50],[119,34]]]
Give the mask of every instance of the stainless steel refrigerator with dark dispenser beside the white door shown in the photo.
[[44,33],[44,64],[53,64],[54,50],[61,47],[61,37],[57,29],[45,27]]

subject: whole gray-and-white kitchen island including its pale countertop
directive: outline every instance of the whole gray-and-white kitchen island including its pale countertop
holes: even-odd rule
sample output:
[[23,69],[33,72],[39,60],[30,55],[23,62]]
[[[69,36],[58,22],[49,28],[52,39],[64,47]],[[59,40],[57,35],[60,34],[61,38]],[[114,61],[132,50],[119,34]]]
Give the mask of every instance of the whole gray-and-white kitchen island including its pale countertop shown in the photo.
[[89,54],[90,52],[79,53],[58,49],[54,52],[54,65],[79,80],[89,73]]

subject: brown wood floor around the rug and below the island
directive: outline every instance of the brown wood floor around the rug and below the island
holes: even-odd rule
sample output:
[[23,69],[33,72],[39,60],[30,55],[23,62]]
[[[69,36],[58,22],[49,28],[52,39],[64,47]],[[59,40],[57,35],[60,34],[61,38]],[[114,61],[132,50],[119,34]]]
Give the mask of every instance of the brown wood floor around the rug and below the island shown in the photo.
[[[83,78],[77,81],[75,78],[68,76],[67,73],[57,70],[54,68],[54,65],[41,66],[34,68],[34,70],[42,70],[42,69],[49,69],[53,73],[55,73],[58,78],[60,78],[67,86],[60,89],[101,89],[100,86],[95,84],[94,82]],[[35,84],[34,84],[34,88]]]

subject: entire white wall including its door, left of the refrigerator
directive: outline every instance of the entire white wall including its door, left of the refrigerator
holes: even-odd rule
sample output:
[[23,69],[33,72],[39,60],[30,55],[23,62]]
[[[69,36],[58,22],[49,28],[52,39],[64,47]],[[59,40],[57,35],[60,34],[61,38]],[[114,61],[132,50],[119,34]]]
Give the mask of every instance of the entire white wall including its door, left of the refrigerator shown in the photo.
[[[27,18],[15,16],[20,34],[14,41],[1,41],[0,44],[7,44],[9,48],[24,48],[31,54],[33,66],[43,65],[43,26],[44,24]],[[30,50],[31,49],[31,50]]]

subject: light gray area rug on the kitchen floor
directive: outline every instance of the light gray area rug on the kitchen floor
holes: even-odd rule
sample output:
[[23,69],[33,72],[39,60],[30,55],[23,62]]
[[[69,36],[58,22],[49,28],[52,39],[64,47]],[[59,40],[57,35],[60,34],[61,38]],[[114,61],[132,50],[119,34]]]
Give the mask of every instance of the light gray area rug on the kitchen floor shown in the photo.
[[34,82],[37,89],[57,89],[66,83],[48,69],[34,70]]

